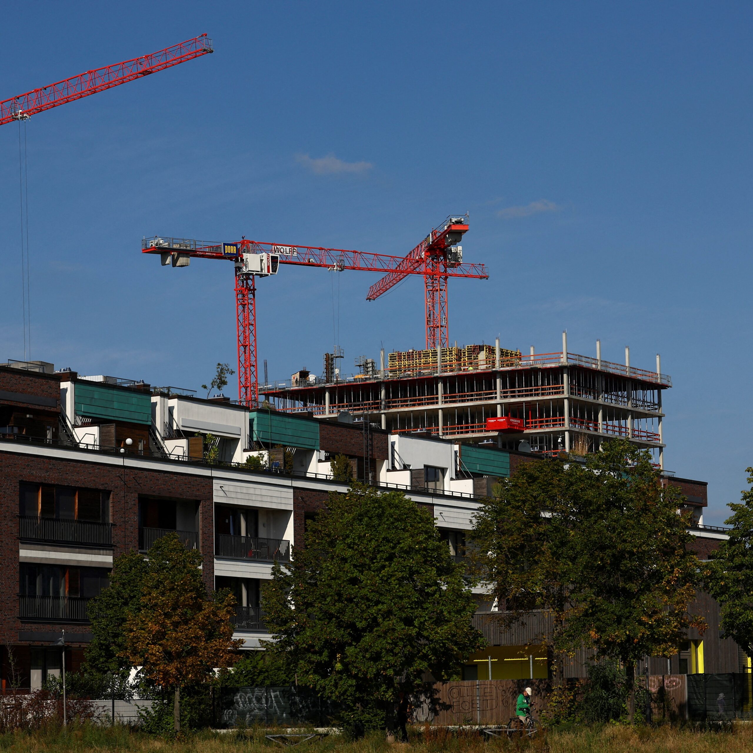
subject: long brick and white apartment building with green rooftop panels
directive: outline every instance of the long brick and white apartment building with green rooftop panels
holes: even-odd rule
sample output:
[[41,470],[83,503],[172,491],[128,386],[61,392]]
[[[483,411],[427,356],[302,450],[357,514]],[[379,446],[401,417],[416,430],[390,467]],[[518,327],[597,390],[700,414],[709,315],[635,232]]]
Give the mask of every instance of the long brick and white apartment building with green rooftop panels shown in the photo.
[[[75,669],[91,638],[88,602],[107,586],[114,559],[148,552],[171,531],[202,554],[209,590],[233,590],[236,638],[247,649],[260,648],[270,638],[261,584],[275,560],[294,556],[306,521],[330,492],[346,489],[332,478],[338,454],[349,457],[354,477],[401,489],[431,511],[458,559],[495,480],[541,459],[431,432],[391,432],[350,413],[315,418],[248,410],[221,396],[84,377],[44,362],[0,365],[2,682],[9,681],[8,647],[26,687],[59,672],[62,651]],[[253,471],[252,456],[261,456],[267,470]],[[686,495],[698,551],[706,556],[725,534],[703,525],[705,483],[669,474],[664,480]],[[550,661],[532,651],[530,636],[495,633],[493,603],[481,589],[476,596],[474,620],[488,651],[517,657],[493,666],[526,672],[520,657],[536,654],[535,671],[547,672]],[[707,607],[711,614],[714,605]],[[56,645],[63,631],[65,649]],[[694,640],[688,651],[698,666],[700,638],[689,636]],[[736,648],[724,648],[718,635],[715,641],[721,648],[703,638],[706,671],[730,671]],[[486,665],[478,657],[473,662],[468,676],[475,669],[483,678]]]

